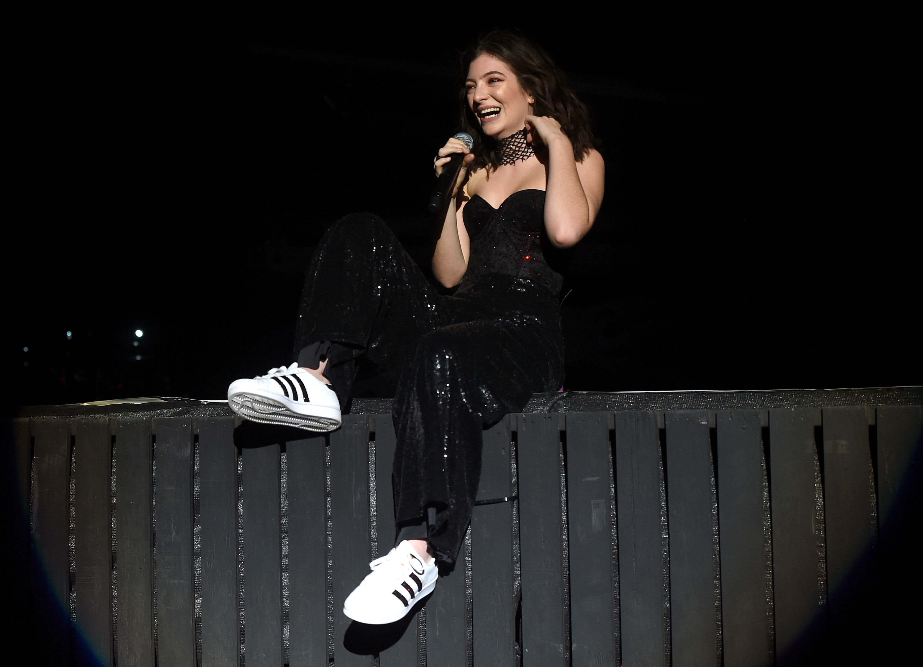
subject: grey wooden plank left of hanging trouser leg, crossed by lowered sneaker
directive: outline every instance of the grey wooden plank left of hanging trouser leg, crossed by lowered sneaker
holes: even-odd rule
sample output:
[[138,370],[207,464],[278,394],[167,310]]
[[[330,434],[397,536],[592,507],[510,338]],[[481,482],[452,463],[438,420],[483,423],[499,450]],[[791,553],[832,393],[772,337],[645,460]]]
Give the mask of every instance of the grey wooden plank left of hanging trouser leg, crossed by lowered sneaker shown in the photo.
[[[378,529],[378,555],[390,552],[396,537],[394,528],[394,492],[391,485],[391,472],[394,470],[394,449],[397,439],[394,435],[394,423],[390,414],[375,416],[375,494],[376,517]],[[437,583],[437,588],[441,582]],[[381,667],[403,667],[418,661],[418,637],[420,634],[419,613],[404,631],[397,643],[381,651],[378,657]]]

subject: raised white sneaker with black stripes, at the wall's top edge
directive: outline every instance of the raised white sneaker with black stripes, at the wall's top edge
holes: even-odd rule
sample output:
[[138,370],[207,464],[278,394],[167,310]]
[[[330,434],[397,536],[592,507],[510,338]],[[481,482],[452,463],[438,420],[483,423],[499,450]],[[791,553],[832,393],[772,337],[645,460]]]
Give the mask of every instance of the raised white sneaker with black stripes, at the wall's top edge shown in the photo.
[[228,387],[228,405],[252,422],[306,431],[332,431],[342,423],[336,392],[298,363],[273,368],[252,380],[234,380]]

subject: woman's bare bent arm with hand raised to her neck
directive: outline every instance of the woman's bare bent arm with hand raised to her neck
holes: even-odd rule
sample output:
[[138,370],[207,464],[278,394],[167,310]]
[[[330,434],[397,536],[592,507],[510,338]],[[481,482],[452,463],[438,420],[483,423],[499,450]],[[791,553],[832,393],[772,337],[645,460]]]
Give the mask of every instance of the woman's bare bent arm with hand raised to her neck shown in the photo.
[[569,247],[590,231],[603,203],[603,156],[591,150],[583,161],[575,161],[570,139],[554,118],[528,115],[525,121],[530,133],[527,138],[548,148],[545,231],[552,244]]

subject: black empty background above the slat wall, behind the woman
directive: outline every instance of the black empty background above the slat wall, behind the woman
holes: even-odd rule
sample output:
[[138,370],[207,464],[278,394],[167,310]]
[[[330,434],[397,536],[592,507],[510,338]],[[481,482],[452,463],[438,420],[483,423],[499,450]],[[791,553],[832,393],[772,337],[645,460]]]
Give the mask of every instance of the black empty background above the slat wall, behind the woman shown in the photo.
[[494,26],[555,56],[605,157],[566,257],[567,388],[920,384],[908,18],[344,7],[12,26],[6,414],[222,399],[290,363],[303,268],[349,212],[428,270],[458,55]]

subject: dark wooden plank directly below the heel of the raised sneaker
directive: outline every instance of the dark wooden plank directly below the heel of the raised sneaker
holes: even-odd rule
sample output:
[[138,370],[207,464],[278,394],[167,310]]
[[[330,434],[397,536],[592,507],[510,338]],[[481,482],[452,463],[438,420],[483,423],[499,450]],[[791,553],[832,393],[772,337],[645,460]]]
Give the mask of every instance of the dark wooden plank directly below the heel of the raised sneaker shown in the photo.
[[289,514],[289,661],[327,663],[326,440],[287,443]]

